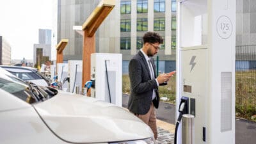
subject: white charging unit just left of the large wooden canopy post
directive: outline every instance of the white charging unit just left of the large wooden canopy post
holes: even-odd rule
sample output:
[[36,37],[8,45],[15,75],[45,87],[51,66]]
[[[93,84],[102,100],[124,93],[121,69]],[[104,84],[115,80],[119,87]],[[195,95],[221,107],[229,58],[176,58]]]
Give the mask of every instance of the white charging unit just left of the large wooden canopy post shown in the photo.
[[83,71],[83,61],[81,60],[68,61],[68,74],[70,77],[69,92],[76,93],[76,86],[78,86],[79,93],[81,93],[82,71]]

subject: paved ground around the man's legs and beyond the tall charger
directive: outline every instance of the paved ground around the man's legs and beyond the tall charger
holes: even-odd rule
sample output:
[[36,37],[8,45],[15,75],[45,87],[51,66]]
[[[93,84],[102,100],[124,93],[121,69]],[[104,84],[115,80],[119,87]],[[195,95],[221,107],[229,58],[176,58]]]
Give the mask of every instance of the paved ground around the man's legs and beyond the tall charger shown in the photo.
[[[127,108],[128,95],[123,95],[123,107]],[[159,138],[157,143],[173,144],[175,131],[175,105],[161,102],[157,109]],[[248,120],[236,120],[236,144],[256,143],[256,123]],[[227,143],[228,144],[228,143]]]

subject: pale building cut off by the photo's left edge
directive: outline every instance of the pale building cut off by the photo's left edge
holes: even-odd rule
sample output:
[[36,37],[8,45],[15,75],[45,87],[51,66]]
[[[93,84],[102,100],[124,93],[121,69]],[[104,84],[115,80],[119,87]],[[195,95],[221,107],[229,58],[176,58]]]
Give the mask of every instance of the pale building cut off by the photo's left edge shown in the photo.
[[11,46],[0,36],[0,65],[11,65]]

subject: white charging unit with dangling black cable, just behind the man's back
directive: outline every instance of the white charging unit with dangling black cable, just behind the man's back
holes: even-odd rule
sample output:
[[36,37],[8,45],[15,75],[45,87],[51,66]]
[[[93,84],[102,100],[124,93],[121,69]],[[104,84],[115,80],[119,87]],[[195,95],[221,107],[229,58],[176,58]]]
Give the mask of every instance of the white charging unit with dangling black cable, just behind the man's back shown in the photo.
[[92,97],[122,106],[122,54],[93,53],[91,79],[95,81]]

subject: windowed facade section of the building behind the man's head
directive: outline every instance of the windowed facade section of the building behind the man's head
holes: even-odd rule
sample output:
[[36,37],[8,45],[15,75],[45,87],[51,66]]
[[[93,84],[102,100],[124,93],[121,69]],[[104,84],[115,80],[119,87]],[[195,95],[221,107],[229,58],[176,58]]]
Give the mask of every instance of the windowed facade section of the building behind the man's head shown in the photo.
[[128,73],[125,67],[128,67],[129,60],[143,46],[142,36],[147,31],[156,31],[164,39],[157,54],[159,71],[175,70],[176,1],[121,0],[120,19],[120,52],[123,54],[124,74]]

